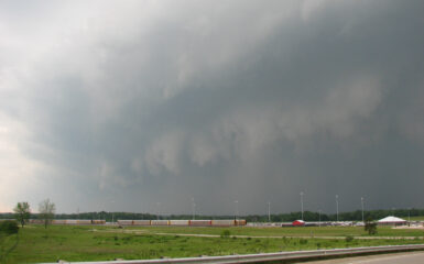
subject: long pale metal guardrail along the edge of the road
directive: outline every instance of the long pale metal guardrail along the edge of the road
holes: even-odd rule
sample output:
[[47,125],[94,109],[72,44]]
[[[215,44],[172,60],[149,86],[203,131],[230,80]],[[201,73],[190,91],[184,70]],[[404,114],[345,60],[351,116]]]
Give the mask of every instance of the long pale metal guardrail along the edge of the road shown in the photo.
[[[307,260],[312,257],[330,257],[343,255],[358,255],[367,253],[389,253],[400,251],[424,250],[424,244],[409,245],[383,245],[383,246],[363,246],[352,249],[335,249],[335,250],[315,250],[315,251],[292,251],[276,253],[261,253],[248,255],[227,255],[227,256],[202,256],[202,257],[184,257],[184,258],[160,258],[160,260],[142,260],[142,261],[105,261],[105,262],[73,262],[78,264],[193,264],[193,263],[214,263],[214,264],[232,264],[232,263],[256,263],[271,261],[287,260]],[[61,263],[69,263],[61,261]]]

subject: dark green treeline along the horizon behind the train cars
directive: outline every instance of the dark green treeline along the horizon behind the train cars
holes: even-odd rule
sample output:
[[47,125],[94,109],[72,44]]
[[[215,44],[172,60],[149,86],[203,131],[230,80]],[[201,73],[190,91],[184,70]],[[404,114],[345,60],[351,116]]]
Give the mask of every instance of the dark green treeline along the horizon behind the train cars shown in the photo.
[[[400,218],[405,218],[407,220],[407,217],[418,217],[424,216],[424,209],[395,209],[395,210],[370,210],[370,211],[363,211],[363,218],[371,218],[374,220],[388,217],[388,216],[395,216]],[[36,219],[39,216],[37,213],[31,213],[32,219]],[[13,219],[14,215],[11,212],[7,213],[0,213],[0,219]],[[249,215],[249,216],[239,216],[240,219],[246,219],[248,222],[268,222],[268,216],[267,215]],[[279,213],[279,215],[271,215],[271,221],[272,222],[291,222],[297,219],[302,218],[301,212],[290,212],[290,213]],[[102,219],[107,222],[116,221],[118,219],[122,220],[167,220],[167,219],[175,219],[175,220],[191,220],[193,219],[192,215],[166,215],[166,216],[156,216],[151,213],[140,213],[140,212],[107,212],[107,211],[99,211],[99,212],[80,212],[80,213],[57,213],[55,215],[54,219]],[[196,216],[195,219],[235,219],[235,216]],[[318,212],[312,212],[312,211],[304,211],[303,212],[303,219],[305,221],[319,221],[319,213]],[[320,221],[336,221],[337,216],[336,215],[328,215],[328,213],[320,213]],[[356,210],[350,212],[340,212],[338,215],[339,221],[361,221],[362,220],[362,211]]]

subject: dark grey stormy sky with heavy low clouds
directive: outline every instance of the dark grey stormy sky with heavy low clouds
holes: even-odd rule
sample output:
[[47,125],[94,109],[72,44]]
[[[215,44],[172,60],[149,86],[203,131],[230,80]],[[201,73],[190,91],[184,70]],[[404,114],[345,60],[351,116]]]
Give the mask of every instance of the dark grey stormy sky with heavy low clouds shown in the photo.
[[423,10],[2,0],[0,211],[423,208]]

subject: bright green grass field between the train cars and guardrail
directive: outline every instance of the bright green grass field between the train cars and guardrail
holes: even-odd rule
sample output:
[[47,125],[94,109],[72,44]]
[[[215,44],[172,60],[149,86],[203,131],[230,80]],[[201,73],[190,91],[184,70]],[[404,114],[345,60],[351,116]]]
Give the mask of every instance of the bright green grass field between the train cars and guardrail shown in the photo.
[[[360,228],[139,228],[142,233],[122,233],[122,229],[96,227],[30,226],[20,230],[20,243],[6,263],[36,263],[65,261],[106,261],[115,258],[141,260],[159,257],[187,257],[198,255],[228,255],[294,250],[352,248],[362,245],[412,244],[422,240],[358,240],[347,241],[346,235],[365,235]],[[127,229],[128,230],[128,229]],[[182,235],[155,235],[155,232],[221,234],[228,238],[195,238]],[[339,239],[280,238],[267,239],[253,235],[339,235]],[[422,235],[379,228],[379,234]],[[232,238],[233,234],[252,235]]]

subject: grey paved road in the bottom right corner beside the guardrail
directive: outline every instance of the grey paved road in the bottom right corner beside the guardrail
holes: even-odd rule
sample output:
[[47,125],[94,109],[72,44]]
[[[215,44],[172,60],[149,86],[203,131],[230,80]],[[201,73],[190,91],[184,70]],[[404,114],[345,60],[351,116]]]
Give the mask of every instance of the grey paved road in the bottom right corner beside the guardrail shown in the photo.
[[[306,262],[307,264],[423,264],[424,252],[409,252],[384,255],[357,256],[328,261]],[[305,262],[303,262],[305,264]]]

